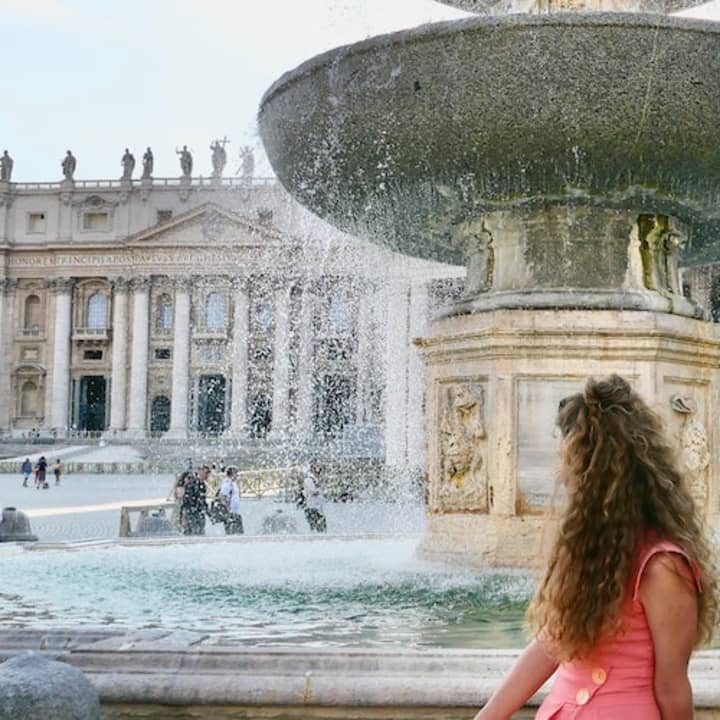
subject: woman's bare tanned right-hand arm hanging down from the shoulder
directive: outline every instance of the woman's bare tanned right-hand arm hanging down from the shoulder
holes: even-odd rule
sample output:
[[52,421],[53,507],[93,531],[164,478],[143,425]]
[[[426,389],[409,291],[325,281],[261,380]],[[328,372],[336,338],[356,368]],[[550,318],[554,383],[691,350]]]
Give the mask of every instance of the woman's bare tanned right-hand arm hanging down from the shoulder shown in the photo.
[[663,720],[692,720],[688,661],[697,637],[695,580],[687,560],[677,553],[650,559],[640,582],[655,648],[655,700]]

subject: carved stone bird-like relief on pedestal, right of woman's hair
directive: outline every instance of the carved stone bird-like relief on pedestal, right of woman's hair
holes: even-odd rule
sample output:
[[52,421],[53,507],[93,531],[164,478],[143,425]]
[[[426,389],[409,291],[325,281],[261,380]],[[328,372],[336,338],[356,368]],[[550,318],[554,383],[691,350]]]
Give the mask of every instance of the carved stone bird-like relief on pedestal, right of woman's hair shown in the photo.
[[700,510],[704,510],[709,499],[708,467],[710,465],[710,443],[705,425],[697,418],[697,404],[688,395],[675,394],[670,398],[670,407],[683,416],[680,430],[680,462],[685,471],[690,494]]

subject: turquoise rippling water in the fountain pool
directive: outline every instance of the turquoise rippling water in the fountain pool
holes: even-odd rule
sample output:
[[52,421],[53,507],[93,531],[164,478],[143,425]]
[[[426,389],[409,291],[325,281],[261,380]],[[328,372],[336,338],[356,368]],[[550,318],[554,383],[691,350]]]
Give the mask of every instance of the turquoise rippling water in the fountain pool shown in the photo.
[[190,630],[300,647],[520,647],[529,574],[422,562],[418,539],[2,549],[0,629]]

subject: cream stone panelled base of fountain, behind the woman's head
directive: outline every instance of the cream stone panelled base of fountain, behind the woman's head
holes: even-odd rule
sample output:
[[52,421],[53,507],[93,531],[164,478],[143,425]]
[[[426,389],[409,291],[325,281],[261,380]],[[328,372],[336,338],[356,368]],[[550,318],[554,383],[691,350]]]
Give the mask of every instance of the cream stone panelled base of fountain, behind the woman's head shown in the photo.
[[657,312],[497,310],[436,320],[420,344],[431,428],[425,557],[532,561],[559,490],[557,404],[589,375],[618,373],[652,400],[699,506],[717,518],[720,335],[710,323]]

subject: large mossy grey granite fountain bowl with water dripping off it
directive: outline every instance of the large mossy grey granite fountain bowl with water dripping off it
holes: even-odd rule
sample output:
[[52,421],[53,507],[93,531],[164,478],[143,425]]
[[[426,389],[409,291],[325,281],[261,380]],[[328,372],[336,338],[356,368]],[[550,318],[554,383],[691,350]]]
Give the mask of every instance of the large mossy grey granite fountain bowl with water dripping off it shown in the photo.
[[477,17],[338,48],[259,123],[281,182],[339,227],[461,263],[492,210],[720,212],[720,25],[641,14]]

